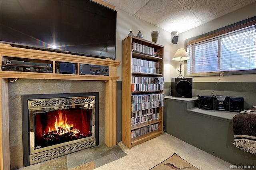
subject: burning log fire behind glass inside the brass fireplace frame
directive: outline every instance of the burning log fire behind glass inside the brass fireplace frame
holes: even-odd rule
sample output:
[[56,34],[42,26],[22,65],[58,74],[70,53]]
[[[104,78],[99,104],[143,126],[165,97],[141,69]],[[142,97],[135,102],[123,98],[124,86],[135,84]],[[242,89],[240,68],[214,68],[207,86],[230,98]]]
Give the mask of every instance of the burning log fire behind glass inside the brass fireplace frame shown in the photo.
[[35,112],[35,149],[92,136],[92,109]]

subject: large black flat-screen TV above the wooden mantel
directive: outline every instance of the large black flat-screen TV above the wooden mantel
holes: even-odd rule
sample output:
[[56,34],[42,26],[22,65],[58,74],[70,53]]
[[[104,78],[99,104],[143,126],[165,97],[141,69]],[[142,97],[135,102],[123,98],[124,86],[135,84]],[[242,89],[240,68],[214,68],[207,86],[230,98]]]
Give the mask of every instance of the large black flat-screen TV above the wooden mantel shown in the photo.
[[91,0],[0,0],[0,42],[116,58],[116,11]]

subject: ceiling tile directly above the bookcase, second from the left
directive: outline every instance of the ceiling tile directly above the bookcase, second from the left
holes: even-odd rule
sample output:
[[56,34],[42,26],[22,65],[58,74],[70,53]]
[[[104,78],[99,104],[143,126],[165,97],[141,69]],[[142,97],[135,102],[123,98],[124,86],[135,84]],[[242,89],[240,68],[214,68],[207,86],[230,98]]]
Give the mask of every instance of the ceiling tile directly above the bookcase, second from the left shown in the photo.
[[184,8],[175,0],[150,0],[135,15],[152,24],[158,24],[182,9]]

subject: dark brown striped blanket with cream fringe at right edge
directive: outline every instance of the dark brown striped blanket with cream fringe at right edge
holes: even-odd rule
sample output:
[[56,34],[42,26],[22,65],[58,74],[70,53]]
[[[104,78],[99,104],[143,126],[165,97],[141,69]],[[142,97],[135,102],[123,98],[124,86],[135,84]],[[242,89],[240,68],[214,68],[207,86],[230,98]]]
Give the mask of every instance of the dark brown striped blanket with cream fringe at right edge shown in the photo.
[[256,106],[233,117],[234,145],[256,154]]

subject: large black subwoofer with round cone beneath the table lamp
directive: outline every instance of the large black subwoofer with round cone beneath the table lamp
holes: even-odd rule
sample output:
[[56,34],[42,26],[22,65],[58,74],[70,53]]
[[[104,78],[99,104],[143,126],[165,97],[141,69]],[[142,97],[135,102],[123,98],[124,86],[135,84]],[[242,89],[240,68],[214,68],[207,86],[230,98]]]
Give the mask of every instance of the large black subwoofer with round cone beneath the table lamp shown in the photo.
[[173,97],[192,97],[192,78],[172,78]]

